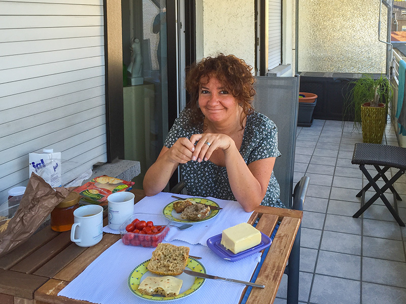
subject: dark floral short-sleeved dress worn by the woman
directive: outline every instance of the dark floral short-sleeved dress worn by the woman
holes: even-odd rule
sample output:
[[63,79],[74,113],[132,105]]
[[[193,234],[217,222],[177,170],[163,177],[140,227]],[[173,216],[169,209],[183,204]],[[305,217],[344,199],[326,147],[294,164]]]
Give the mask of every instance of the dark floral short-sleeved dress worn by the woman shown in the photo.
[[[184,109],[180,113],[166,137],[166,147],[172,147],[180,137],[190,138],[193,134],[203,133],[203,124],[193,126],[190,117],[190,109]],[[247,116],[240,154],[247,165],[257,160],[281,156],[278,150],[278,129],[274,122],[256,111]],[[217,166],[210,160],[201,163],[189,161],[181,166],[181,174],[189,195],[236,201],[228,182],[226,167]],[[272,172],[261,205],[286,208],[279,195],[279,183]]]

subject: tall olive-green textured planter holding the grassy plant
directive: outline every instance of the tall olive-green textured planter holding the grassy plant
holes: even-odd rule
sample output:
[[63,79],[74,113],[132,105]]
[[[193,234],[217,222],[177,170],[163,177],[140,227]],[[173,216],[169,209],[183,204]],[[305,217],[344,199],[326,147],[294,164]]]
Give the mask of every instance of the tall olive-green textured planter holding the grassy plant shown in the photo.
[[369,106],[369,102],[361,106],[362,141],[368,143],[382,143],[385,131],[385,104],[379,107]]

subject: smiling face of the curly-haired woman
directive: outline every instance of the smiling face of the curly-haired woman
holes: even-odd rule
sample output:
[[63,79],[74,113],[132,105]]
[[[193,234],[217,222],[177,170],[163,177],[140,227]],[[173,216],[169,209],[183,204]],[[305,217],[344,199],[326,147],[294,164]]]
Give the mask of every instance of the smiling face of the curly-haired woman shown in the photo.
[[204,116],[213,123],[232,124],[239,120],[242,111],[238,100],[213,75],[200,80],[198,104]]

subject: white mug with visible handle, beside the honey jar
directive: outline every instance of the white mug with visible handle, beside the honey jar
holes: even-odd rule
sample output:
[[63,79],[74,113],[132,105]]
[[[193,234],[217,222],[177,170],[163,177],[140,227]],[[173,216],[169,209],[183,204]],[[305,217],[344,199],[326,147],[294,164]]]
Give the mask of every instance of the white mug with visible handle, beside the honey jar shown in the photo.
[[86,205],[73,212],[71,241],[80,247],[96,245],[103,238],[103,207]]

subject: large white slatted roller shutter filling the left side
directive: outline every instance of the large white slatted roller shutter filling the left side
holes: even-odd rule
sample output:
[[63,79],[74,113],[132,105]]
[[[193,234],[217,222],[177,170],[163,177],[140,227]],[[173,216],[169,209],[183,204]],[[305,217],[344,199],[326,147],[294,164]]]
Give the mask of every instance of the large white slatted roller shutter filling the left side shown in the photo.
[[103,0],[0,0],[0,204],[32,151],[70,176],[107,161],[104,75]]

